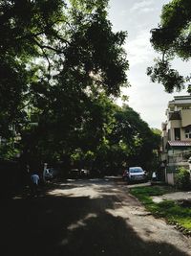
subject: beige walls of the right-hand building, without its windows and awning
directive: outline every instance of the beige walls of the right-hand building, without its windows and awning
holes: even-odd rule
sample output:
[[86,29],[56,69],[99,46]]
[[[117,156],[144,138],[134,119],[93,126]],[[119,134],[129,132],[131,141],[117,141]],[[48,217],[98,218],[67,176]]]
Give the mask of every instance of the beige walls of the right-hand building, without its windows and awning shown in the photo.
[[[179,112],[178,112],[179,111]],[[180,114],[179,114],[180,113]],[[166,149],[168,141],[175,141],[175,128],[176,134],[179,134],[177,140],[181,141],[190,141],[191,138],[185,137],[185,128],[191,126],[191,96],[175,96],[172,101],[168,103],[166,109],[167,121],[162,123],[162,151],[161,151],[161,160],[167,157],[167,167],[165,172],[165,181],[168,184],[174,185],[175,175],[178,168],[188,167],[188,162],[185,157],[183,157],[182,151],[185,151],[185,148],[176,149]],[[176,119],[176,120],[173,120]],[[181,155],[182,154],[182,155]]]

